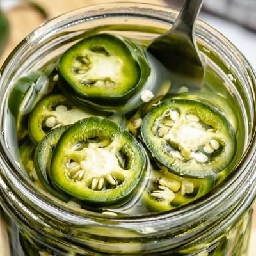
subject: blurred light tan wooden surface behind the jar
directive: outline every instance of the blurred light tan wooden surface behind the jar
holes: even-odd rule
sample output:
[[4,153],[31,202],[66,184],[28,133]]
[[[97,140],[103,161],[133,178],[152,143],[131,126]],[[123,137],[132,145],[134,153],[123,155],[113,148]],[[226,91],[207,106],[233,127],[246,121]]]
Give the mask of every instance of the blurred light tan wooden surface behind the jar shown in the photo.
[[[54,17],[60,15],[61,13],[68,12],[69,10],[74,10],[76,8],[81,8],[83,6],[87,6],[90,4],[100,4],[106,2],[121,2],[122,0],[37,0],[36,2],[41,4],[47,13],[49,13],[49,17]],[[131,0],[133,2],[145,2],[152,4],[165,4],[168,1],[164,0]],[[126,2],[126,1],[124,1]],[[172,2],[172,1],[169,1]],[[24,38],[24,36],[28,35],[29,32],[33,31],[36,27],[38,27],[43,21],[44,17],[30,6],[24,4],[19,7],[15,7],[12,10],[8,10],[7,12],[8,19],[10,21],[10,26],[12,28],[10,41],[6,51],[4,52],[4,56],[0,59],[0,65],[3,63],[4,58],[8,56],[10,51],[12,51],[13,47],[17,45],[20,40]],[[255,205],[256,210],[256,205]],[[256,212],[256,211],[255,211]],[[256,241],[256,214],[253,215],[253,226],[252,226],[252,236],[250,242],[250,248],[248,256],[256,255],[256,246],[253,242]],[[255,243],[255,242],[254,242]],[[232,255],[231,255],[232,256]]]

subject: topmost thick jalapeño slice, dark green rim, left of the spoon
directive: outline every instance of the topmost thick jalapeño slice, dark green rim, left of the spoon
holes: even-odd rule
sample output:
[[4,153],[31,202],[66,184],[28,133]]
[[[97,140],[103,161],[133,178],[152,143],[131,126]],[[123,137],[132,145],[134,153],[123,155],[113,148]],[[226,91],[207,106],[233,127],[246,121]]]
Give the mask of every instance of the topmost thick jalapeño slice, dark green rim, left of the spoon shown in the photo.
[[124,105],[147,80],[150,68],[129,40],[93,35],[72,45],[58,64],[64,90],[86,104]]

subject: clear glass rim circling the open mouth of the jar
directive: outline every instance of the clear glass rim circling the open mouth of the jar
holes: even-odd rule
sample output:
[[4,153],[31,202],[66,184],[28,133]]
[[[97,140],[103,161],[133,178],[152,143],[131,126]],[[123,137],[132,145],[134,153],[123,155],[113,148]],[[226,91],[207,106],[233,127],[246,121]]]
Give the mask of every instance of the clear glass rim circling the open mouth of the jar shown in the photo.
[[[118,7],[116,7],[118,6]],[[134,12],[134,9],[136,12]],[[123,15],[125,16],[136,16],[143,17],[147,20],[157,20],[168,24],[170,20],[175,19],[177,17],[177,12],[172,10],[171,8],[158,6],[155,4],[144,4],[144,3],[110,3],[110,4],[99,4],[95,6],[90,6],[86,8],[82,8],[79,10],[75,10],[73,12],[65,13],[55,19],[49,20],[36,29],[33,33],[27,36],[10,54],[8,59],[5,61],[3,67],[0,71],[0,81],[3,83],[6,78],[6,74],[12,74],[12,65],[17,61],[19,63],[19,58],[22,58],[24,51],[28,48],[33,48],[33,45],[38,44],[47,38],[50,38],[56,32],[60,32],[61,29],[67,26],[67,23],[70,24],[79,24],[86,22],[90,19],[102,19],[104,18],[104,12],[106,10],[110,10],[111,13],[108,13],[108,16],[115,15]],[[157,12],[156,12],[157,10]],[[97,14],[94,12],[98,11]],[[76,17],[77,19],[72,19],[72,17]],[[83,18],[82,18],[83,17]],[[116,218],[111,218],[113,222],[122,222],[129,227],[129,225],[134,226],[136,223],[152,223],[155,225],[159,225],[158,223],[165,223],[163,221],[168,220],[168,228],[170,225],[174,227],[180,227],[180,225],[185,226],[188,223],[200,223],[201,219],[207,218],[207,216],[212,216],[212,214],[221,214],[223,211],[228,211],[235,205],[235,201],[237,198],[243,198],[246,194],[246,191],[250,188],[252,183],[255,183],[256,174],[254,172],[245,172],[245,170],[253,170],[253,166],[256,164],[256,143],[255,143],[255,133],[256,133],[256,121],[254,116],[255,111],[255,73],[250,67],[250,64],[246,61],[243,55],[236,49],[231,42],[227,40],[223,35],[215,31],[211,26],[205,24],[201,20],[196,22],[196,31],[198,32],[198,40],[202,40],[200,37],[200,31],[206,31],[209,33],[209,37],[212,36],[212,42],[218,42],[218,46],[223,49],[228,49],[230,52],[236,52],[236,61],[242,63],[244,77],[249,81],[244,84],[244,90],[246,91],[246,95],[248,97],[248,101],[250,106],[248,107],[248,113],[251,115],[250,119],[252,122],[250,124],[250,131],[248,131],[248,140],[246,141],[246,150],[244,150],[243,156],[241,157],[239,163],[237,163],[236,168],[230,173],[229,179],[221,186],[214,188],[210,193],[199,198],[195,202],[191,204],[184,205],[178,209],[172,210],[170,212],[158,212],[156,214],[150,214],[150,216],[127,216],[121,217],[117,216]],[[241,65],[239,65],[241,66]],[[17,77],[13,77],[15,80]],[[246,86],[246,87],[245,87]],[[1,169],[4,170],[4,179],[6,182],[10,184],[15,184],[17,186],[16,189],[19,189],[20,192],[24,193],[24,196],[27,200],[34,203],[34,207],[38,207],[38,209],[43,209],[45,211],[45,207],[47,211],[51,212],[52,215],[58,216],[61,220],[67,221],[77,221],[77,223],[86,223],[88,220],[97,220],[97,221],[108,221],[108,216],[102,216],[101,214],[97,214],[94,212],[88,212],[86,210],[79,210],[68,207],[68,205],[63,204],[58,200],[51,200],[49,203],[49,196],[41,193],[40,191],[36,191],[33,189],[33,186],[28,183],[25,179],[24,175],[22,175],[22,171],[20,170],[19,164],[15,163],[13,157],[10,154],[10,145],[8,145],[8,141],[6,139],[6,132],[8,131],[6,124],[4,121],[6,120],[6,116],[4,114],[4,110],[7,105],[7,97],[10,88],[6,90],[2,86],[0,93],[3,95],[3,100],[1,102]],[[5,90],[5,91],[4,91]],[[17,173],[12,170],[17,171]],[[1,182],[0,182],[1,183]],[[240,189],[239,193],[237,193],[237,189]],[[253,193],[248,198],[248,204],[251,204],[255,197],[256,189],[253,190]],[[236,195],[235,195],[236,194]],[[234,205],[228,205],[225,198],[233,198]],[[237,201],[236,201],[237,202]],[[33,205],[33,204],[32,204]],[[244,205],[243,209],[240,209],[241,212],[246,209],[248,205]],[[65,212],[65,214],[63,214]],[[76,216],[76,217],[74,217]],[[182,216],[182,218],[180,217]],[[198,216],[198,218],[195,218]],[[186,223],[184,223],[186,220]],[[183,223],[182,223],[183,222]],[[171,223],[171,224],[170,224]],[[163,226],[162,226],[163,227]]]

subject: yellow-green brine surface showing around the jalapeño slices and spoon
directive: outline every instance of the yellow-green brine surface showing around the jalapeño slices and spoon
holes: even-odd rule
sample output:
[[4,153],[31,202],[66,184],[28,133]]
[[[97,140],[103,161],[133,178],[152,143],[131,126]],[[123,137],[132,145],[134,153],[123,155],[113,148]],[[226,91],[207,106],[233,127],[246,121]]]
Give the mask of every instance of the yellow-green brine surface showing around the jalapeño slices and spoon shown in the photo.
[[[155,33],[159,32],[159,29],[151,28],[150,31],[150,29],[143,27],[136,29],[141,29],[141,31],[147,31],[148,29],[148,33],[142,33],[140,31],[131,32],[129,31],[129,29],[134,29],[132,27],[127,27],[127,31],[118,31],[118,29],[118,26],[111,26],[111,29],[96,28],[87,34],[90,35],[101,30],[104,31],[104,33],[122,35],[137,44],[140,49],[145,50],[147,48],[147,45],[150,44],[150,42],[152,41],[152,38],[156,36]],[[152,31],[154,31],[154,33],[152,33]],[[202,49],[202,47],[200,48],[201,50],[203,50],[202,54],[204,54],[204,51],[207,51],[207,49]],[[143,87],[143,90],[148,90],[152,93],[152,95],[154,95],[154,97],[151,99],[153,102],[152,104],[157,104],[159,101],[161,102],[163,97],[197,100],[211,106],[212,108],[218,109],[218,111],[220,111],[229,120],[230,124],[234,128],[234,131],[236,132],[237,145],[240,145],[240,149],[238,148],[236,150],[236,154],[231,163],[228,164],[228,166],[214,180],[215,186],[218,186],[218,184],[226,179],[228,174],[232,172],[232,169],[236,165],[239,157],[243,152],[244,145],[244,122],[241,119],[241,116],[243,116],[243,114],[241,113],[241,108],[239,106],[239,103],[237,102],[236,97],[232,93],[232,81],[230,81],[230,77],[225,76],[225,74],[223,74],[221,70],[214,65],[213,61],[211,61],[211,53],[207,52],[207,56],[204,56],[207,60],[207,69],[205,74],[205,84],[203,88],[201,90],[195,90],[194,88],[189,88],[189,86],[175,86],[175,84],[172,84],[172,77],[168,73],[168,70],[166,70],[160,63],[158,63],[157,60],[154,59],[154,57],[150,56],[148,52],[146,52],[146,55],[147,60],[150,63],[151,74],[150,77],[148,77],[147,83]],[[45,70],[51,69],[49,67],[54,67],[55,65],[56,58],[54,58],[45,67],[42,67],[41,70],[45,72]],[[54,68],[52,68],[52,72],[50,72],[50,74],[47,74],[47,76],[49,77],[50,84],[53,88],[52,90],[60,92],[58,91],[56,85],[59,79],[58,72]],[[122,125],[124,129],[129,130],[129,123],[131,123],[131,120],[134,121],[139,119],[132,118],[136,116],[136,111],[138,111],[141,104],[144,104],[143,100],[141,101],[141,92],[142,90],[136,93],[136,95],[132,96],[131,99],[128,100],[127,104],[125,104],[125,106],[115,108],[114,111],[112,111],[113,109],[108,109],[108,107],[106,107],[107,111],[109,111],[110,113],[112,112],[111,115],[108,115],[109,119],[118,122],[118,124]],[[161,96],[161,98],[160,100],[157,100],[157,97],[159,97],[159,95]],[[133,107],[134,105],[136,105],[136,102],[138,102],[138,99],[140,99],[140,104]],[[154,102],[155,99],[156,102]],[[132,109],[131,112],[127,111],[127,108],[129,107],[131,107]],[[234,111],[234,109],[236,109],[236,111]],[[143,116],[140,116],[140,118],[143,118]],[[26,131],[23,132],[24,134],[28,133]],[[23,137],[28,138],[28,136]],[[27,140],[24,138],[17,143],[19,145],[19,148],[22,147],[22,143],[24,143],[24,140]],[[143,193],[147,188],[150,179],[152,179],[152,173],[154,173],[154,171],[156,170],[159,170],[159,166],[157,166],[156,163],[153,163],[154,161],[152,161],[152,156],[150,156],[149,153],[147,153],[147,157],[147,170],[145,172],[144,179],[141,182],[140,188],[136,189],[136,192],[129,200],[125,202],[118,202],[117,204],[110,206],[90,205],[90,207],[88,207],[88,204],[84,204],[83,201],[77,200],[77,198],[70,198],[67,203],[72,207],[81,207],[88,211],[95,211],[98,213],[107,214],[109,216],[141,216],[147,214],[154,214],[155,212],[157,212],[156,209],[153,209],[154,207],[148,207],[148,205],[145,204],[143,200]],[[149,159],[151,159],[151,161]],[[34,168],[29,171],[28,170],[29,168],[25,172],[27,173],[29,179],[31,179],[35,183],[35,188],[39,190],[44,190],[44,186],[40,184],[40,180],[38,179],[38,175],[36,175]],[[198,198],[196,198],[196,200],[198,200]]]

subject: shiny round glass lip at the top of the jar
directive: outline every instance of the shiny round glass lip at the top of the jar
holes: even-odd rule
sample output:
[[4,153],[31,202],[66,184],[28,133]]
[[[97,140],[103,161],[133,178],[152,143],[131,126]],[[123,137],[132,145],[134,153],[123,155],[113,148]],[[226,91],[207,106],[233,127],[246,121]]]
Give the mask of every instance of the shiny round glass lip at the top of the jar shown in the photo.
[[[125,15],[142,15],[144,17],[147,17],[147,19],[159,19],[159,20],[166,20],[167,17],[170,17],[171,13],[174,16],[177,16],[177,12],[172,10],[172,8],[164,7],[164,6],[159,6],[156,4],[145,4],[145,3],[108,3],[108,4],[97,4],[94,6],[90,7],[85,7],[85,8],[80,8],[78,10],[74,10],[72,12],[65,13],[63,15],[60,15],[52,20],[49,20],[42,24],[38,29],[33,31],[30,35],[28,35],[10,54],[8,59],[5,61],[3,67],[1,68],[0,71],[0,81],[3,79],[3,74],[6,74],[6,72],[11,72],[9,63],[10,61],[17,60],[19,58],[20,52],[23,51],[23,49],[26,49],[26,47],[31,47],[31,45],[35,44],[38,40],[42,40],[42,35],[44,36],[49,36],[51,33],[56,32],[56,29],[52,29],[56,26],[59,26],[58,29],[62,29],[63,26],[65,26],[65,23],[67,23],[67,20],[70,17],[74,17],[74,15],[79,15],[81,16],[83,13],[86,15],[86,18],[84,20],[81,19],[80,22],[86,21],[86,19],[90,19],[90,13],[96,12],[97,10],[100,10],[100,12],[104,12],[104,10],[110,10],[111,8],[115,7],[115,12],[112,11],[113,15],[116,15],[116,12],[120,12],[120,10],[123,10],[123,14]],[[134,8],[136,8],[136,13],[134,13]],[[157,14],[156,14],[156,9],[157,9]],[[118,13],[121,15],[122,13]],[[144,13],[144,14],[141,14]],[[110,15],[111,16],[111,15]],[[141,16],[141,17],[142,17]],[[69,18],[68,18],[69,17]],[[95,17],[95,15],[93,16]],[[98,18],[98,19],[102,19]],[[63,22],[63,20],[66,20],[66,22]],[[73,20],[72,22],[77,22],[76,20]],[[243,54],[241,54],[236,47],[227,40],[223,35],[221,35],[218,31],[215,29],[211,28],[211,26],[205,24],[205,22],[202,22],[201,20],[198,20],[196,22],[197,29],[205,29],[206,31],[211,31],[211,36],[214,35],[215,38],[220,40],[223,45],[228,46],[230,51],[236,52],[236,58],[239,61],[246,63],[246,72],[248,74],[248,77],[250,77],[251,83],[251,90],[253,92],[256,92],[255,86],[255,73],[248,63],[246,59],[243,57]],[[249,79],[249,78],[248,78]],[[0,113],[0,118],[1,118],[1,131],[4,131],[3,127],[3,109],[4,109],[4,103],[6,104],[6,97],[7,93],[5,93],[4,99],[1,103],[1,109],[2,112]],[[253,95],[253,110],[255,109],[255,95]],[[253,113],[253,111],[252,111]],[[253,116],[254,118],[254,116]],[[150,216],[127,216],[127,217],[117,217],[117,218],[111,218],[111,221],[113,222],[122,222],[123,224],[127,225],[127,227],[135,227],[135,225],[141,224],[141,225],[146,225],[147,223],[154,223],[156,225],[159,225],[159,223],[164,223],[166,225],[166,221],[168,221],[168,228],[172,226],[172,228],[175,227],[180,227],[181,223],[182,226],[188,225],[195,221],[195,216],[198,216],[198,219],[196,220],[196,223],[200,223],[203,219],[207,218],[207,216],[212,216],[214,214],[213,212],[216,212],[216,207],[220,208],[223,207],[223,209],[220,209],[220,212],[225,209],[225,207],[230,207],[230,205],[225,205],[225,196],[229,196],[232,198],[235,198],[234,191],[237,190],[237,187],[241,188],[241,191],[239,192],[239,195],[236,194],[236,200],[239,198],[239,196],[242,198],[243,195],[246,194],[246,191],[248,191],[248,188],[251,186],[252,182],[255,182],[256,180],[256,175],[255,173],[246,173],[244,170],[249,169],[252,170],[253,165],[256,164],[256,142],[255,142],[255,134],[256,134],[256,121],[253,119],[253,124],[252,124],[252,134],[250,135],[250,143],[248,143],[248,148],[243,154],[243,162],[241,161],[240,163],[237,164],[236,166],[236,172],[234,172],[234,175],[228,179],[225,184],[222,186],[218,186],[218,188],[213,189],[212,192],[209,194],[203,196],[203,198],[200,198],[199,200],[196,200],[195,202],[192,202],[191,204],[185,205],[184,207],[180,207],[180,209],[176,209],[175,211],[170,211],[170,212],[159,212],[156,214],[151,214]],[[17,170],[19,166],[17,164],[13,163],[12,156],[10,156],[8,147],[6,147],[6,139],[4,138],[3,133],[0,136],[0,143],[1,143],[1,163],[0,165],[2,166],[2,170],[6,169],[13,169]],[[252,161],[253,159],[253,161]],[[9,173],[10,174],[10,173]],[[68,220],[72,222],[74,220],[74,214],[76,216],[79,216],[79,218],[76,218],[76,221],[79,223],[85,223],[88,220],[99,220],[99,221],[108,221],[109,218],[108,216],[102,216],[97,213],[92,213],[88,212],[85,210],[79,210],[77,209],[76,211],[72,209],[70,210],[70,207],[68,207],[65,204],[62,204],[58,201],[51,201],[49,204],[49,198],[44,195],[44,193],[40,193],[40,191],[33,191],[33,187],[31,187],[30,184],[26,183],[26,180],[23,179],[19,173],[11,173],[10,182],[17,182],[19,180],[19,186],[20,190],[29,193],[26,193],[26,196],[31,196],[30,200],[32,198],[37,201],[37,207],[44,209],[45,204],[49,207],[49,211],[51,209],[52,214],[55,214],[56,216],[59,216],[60,218],[63,218],[63,220]],[[225,192],[225,193],[224,193]],[[254,195],[250,196],[250,201],[252,201],[255,197],[256,191],[254,191]],[[204,199],[204,200],[202,200]],[[39,204],[40,202],[40,204]],[[252,202],[248,202],[252,203]],[[234,206],[234,205],[232,205]],[[244,209],[246,205],[244,205]],[[58,209],[58,211],[56,210]],[[227,208],[228,209],[228,208]],[[61,215],[60,211],[61,210]],[[65,212],[65,214],[63,214]],[[219,212],[219,214],[220,214]],[[182,218],[181,218],[182,216]],[[184,223],[184,218],[186,218],[186,223]],[[202,220],[200,220],[200,218]],[[170,225],[172,223],[172,225]],[[161,225],[163,227],[163,225]]]

